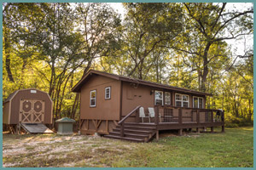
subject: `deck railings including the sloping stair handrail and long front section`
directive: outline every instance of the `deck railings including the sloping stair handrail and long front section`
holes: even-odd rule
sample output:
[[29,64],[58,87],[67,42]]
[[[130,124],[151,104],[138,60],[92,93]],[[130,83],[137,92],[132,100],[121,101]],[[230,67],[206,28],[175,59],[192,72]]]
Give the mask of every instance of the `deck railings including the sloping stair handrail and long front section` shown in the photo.
[[[134,110],[127,114],[122,120],[119,121],[120,136],[124,137],[125,121],[130,117],[135,117],[135,122],[140,122],[138,105]],[[135,114],[135,116],[132,116]],[[198,108],[184,108],[176,106],[154,106],[154,124],[159,123],[224,123],[224,111],[213,109],[198,109]],[[222,126],[224,132],[224,126]]]

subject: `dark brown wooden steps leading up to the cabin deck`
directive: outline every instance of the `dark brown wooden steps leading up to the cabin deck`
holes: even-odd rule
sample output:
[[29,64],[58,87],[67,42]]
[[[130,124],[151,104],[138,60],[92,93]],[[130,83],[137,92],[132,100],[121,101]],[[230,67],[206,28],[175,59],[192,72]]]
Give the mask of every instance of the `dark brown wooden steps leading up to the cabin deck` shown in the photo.
[[156,132],[156,126],[152,124],[143,124],[135,122],[127,122],[124,126],[124,137],[121,137],[121,127],[118,125],[113,128],[113,132],[104,137],[110,139],[124,139],[132,142],[148,142]]

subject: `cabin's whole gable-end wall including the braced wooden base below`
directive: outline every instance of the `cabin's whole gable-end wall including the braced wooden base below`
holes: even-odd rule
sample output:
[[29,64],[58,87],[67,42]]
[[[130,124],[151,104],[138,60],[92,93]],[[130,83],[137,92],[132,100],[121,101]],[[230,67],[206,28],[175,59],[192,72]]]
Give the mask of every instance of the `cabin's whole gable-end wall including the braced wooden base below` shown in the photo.
[[[92,76],[81,88],[80,131],[82,134],[108,133],[119,122],[121,82],[108,77]],[[105,88],[111,87],[111,99]],[[90,91],[96,90],[96,106],[90,107]]]

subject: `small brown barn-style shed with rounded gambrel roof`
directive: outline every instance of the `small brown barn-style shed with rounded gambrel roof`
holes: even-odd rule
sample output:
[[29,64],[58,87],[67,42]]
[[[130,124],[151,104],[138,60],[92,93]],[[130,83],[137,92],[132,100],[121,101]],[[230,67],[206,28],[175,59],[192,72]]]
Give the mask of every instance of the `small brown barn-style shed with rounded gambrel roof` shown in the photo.
[[49,94],[36,88],[16,90],[3,102],[3,124],[52,124],[52,100]]

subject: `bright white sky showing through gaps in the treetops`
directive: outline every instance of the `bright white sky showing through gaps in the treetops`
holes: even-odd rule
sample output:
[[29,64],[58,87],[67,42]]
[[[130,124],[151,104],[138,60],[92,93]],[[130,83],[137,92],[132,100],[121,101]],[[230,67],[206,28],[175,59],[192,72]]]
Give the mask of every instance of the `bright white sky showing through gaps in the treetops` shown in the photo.
[[[121,14],[122,19],[124,19],[125,15],[125,8],[123,7],[122,3],[108,3],[114,10],[116,10],[119,14]],[[252,6],[252,3],[227,3],[226,8],[228,10],[232,10],[233,8],[242,11]],[[234,56],[236,55],[243,55],[244,51],[247,48],[253,47],[253,36],[247,36],[246,42],[244,38],[241,40],[228,40],[226,41],[232,50]]]

